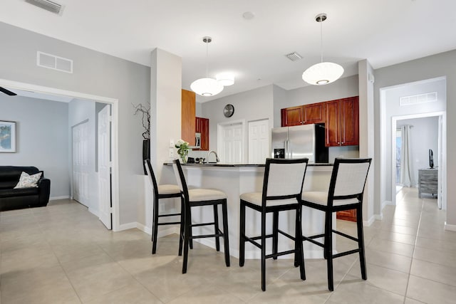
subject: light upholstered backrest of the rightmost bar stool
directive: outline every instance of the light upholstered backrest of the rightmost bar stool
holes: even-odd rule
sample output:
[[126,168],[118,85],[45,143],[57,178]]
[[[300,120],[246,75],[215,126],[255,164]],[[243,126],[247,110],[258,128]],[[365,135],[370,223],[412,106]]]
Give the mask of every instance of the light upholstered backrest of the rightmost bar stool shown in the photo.
[[358,199],[363,201],[363,192],[368,178],[371,158],[336,158],[329,185],[328,206],[333,199]]

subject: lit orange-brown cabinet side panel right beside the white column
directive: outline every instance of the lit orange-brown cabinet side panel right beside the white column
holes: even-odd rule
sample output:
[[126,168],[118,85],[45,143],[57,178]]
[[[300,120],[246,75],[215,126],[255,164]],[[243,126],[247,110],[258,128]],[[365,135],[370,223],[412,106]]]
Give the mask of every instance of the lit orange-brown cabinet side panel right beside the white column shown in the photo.
[[195,145],[195,92],[182,90],[182,108],[181,108],[181,137],[189,143]]

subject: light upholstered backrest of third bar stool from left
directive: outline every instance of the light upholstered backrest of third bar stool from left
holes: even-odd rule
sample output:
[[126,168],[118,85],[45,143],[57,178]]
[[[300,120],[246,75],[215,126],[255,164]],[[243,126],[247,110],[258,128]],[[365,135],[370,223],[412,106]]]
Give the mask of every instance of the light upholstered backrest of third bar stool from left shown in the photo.
[[300,198],[308,162],[308,158],[266,159],[263,206],[269,200]]

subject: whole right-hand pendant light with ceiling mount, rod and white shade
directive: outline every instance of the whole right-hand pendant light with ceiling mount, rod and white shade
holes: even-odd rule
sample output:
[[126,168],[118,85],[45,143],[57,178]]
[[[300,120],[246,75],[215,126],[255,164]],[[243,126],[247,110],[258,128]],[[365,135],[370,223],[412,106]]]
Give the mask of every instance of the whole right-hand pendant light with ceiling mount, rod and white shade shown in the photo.
[[341,78],[343,68],[341,65],[332,62],[323,62],[323,21],[327,18],[326,14],[318,14],[315,21],[320,23],[320,48],[321,62],[312,65],[302,73],[302,79],[311,85],[326,85],[333,83]]

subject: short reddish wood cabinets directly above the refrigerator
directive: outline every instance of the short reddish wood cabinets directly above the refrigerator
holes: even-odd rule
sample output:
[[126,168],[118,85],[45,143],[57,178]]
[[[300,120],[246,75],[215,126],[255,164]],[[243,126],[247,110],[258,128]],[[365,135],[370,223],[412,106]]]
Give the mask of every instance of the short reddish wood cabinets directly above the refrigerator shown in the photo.
[[324,103],[311,103],[281,109],[281,126],[307,125],[325,122]]

